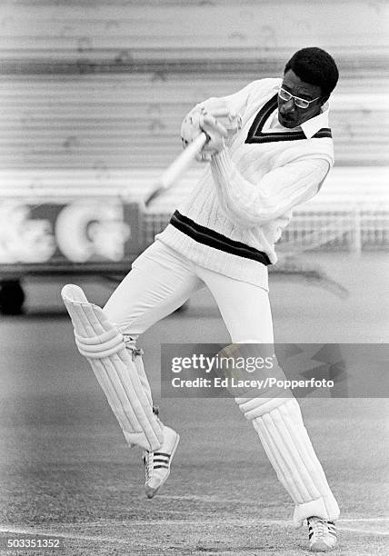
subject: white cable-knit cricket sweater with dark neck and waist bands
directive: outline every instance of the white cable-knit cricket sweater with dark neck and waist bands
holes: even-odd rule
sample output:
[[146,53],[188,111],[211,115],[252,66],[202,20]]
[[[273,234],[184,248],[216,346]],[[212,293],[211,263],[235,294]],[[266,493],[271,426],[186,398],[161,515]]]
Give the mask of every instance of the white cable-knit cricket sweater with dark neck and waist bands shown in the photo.
[[300,127],[284,128],[279,84],[261,79],[224,97],[242,128],[155,236],[196,264],[265,289],[266,265],[277,260],[274,243],[293,207],[318,192],[334,164],[327,106]]

